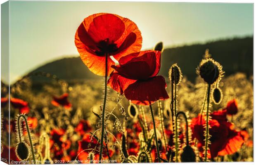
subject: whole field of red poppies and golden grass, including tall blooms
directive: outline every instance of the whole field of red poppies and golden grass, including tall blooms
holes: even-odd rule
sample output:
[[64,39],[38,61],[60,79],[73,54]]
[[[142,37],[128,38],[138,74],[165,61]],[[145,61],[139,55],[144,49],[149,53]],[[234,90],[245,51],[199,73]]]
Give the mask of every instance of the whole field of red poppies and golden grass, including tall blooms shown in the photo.
[[[140,29],[117,14],[92,14],[74,34],[81,61],[102,80],[35,72],[10,87],[1,82],[2,161],[253,161],[252,75],[226,76],[209,49],[190,68],[195,82],[179,64],[160,75],[164,43],[141,50]],[[50,83],[35,89],[32,75]]]

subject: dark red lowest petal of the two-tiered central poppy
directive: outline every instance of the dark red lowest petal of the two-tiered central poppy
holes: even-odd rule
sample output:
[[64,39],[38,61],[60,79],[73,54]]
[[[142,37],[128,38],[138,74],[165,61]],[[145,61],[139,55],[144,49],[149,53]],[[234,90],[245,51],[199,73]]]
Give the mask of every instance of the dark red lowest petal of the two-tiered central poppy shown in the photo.
[[127,99],[137,105],[149,105],[159,99],[169,98],[166,92],[166,82],[161,75],[147,81],[137,80],[127,87],[124,94]]

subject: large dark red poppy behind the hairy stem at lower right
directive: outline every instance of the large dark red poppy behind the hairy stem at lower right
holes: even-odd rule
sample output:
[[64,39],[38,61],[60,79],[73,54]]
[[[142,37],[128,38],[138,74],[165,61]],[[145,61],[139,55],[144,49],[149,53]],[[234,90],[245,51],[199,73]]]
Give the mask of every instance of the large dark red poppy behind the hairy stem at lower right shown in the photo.
[[[216,156],[224,156],[235,153],[241,148],[244,139],[241,132],[234,130],[234,125],[226,119],[226,111],[219,110],[210,114],[212,119],[209,121],[211,135],[209,145],[210,155],[209,158]],[[205,116],[199,114],[198,117],[193,118],[191,122],[192,132],[194,137],[199,141],[200,148],[204,146],[204,130],[205,130]],[[199,148],[199,150],[200,150]]]

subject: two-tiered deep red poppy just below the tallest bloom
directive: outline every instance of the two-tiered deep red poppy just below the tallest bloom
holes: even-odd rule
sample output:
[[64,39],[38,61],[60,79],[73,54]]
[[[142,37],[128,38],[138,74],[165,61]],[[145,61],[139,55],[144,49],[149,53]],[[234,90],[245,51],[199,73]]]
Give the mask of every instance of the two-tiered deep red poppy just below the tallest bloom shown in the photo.
[[115,71],[111,73],[108,85],[138,105],[168,99],[164,77],[157,76],[160,59],[161,52],[151,50],[122,57],[118,66],[112,66]]

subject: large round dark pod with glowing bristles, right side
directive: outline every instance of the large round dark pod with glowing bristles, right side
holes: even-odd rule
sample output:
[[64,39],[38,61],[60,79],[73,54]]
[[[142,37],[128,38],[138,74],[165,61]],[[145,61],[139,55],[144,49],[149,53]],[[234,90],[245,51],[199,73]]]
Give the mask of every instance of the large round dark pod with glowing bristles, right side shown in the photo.
[[213,59],[203,59],[198,68],[197,74],[211,85],[223,76],[222,66]]

